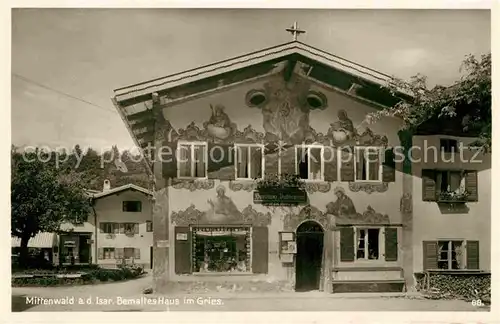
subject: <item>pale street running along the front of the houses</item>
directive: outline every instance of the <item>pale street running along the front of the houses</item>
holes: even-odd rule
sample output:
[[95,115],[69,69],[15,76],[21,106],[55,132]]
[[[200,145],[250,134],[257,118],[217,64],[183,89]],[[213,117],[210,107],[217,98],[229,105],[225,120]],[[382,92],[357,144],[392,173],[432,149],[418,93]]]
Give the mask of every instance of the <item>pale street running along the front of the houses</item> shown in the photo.
[[[14,312],[29,311],[487,311],[458,300],[426,300],[384,294],[251,293],[142,295],[151,277],[78,287],[12,288]],[[33,305],[29,297],[73,297],[72,305]],[[82,304],[79,304],[81,298]],[[87,304],[87,301],[90,302]],[[156,303],[156,304],[154,304]]]

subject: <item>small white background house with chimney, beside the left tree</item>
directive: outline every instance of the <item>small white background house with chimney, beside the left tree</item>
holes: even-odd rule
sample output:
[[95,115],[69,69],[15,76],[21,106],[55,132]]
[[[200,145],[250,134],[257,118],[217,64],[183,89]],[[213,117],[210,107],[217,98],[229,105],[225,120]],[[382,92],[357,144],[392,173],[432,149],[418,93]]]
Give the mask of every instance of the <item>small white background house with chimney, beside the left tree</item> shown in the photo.
[[86,222],[61,226],[66,232],[60,235],[61,263],[116,267],[133,262],[150,268],[151,192],[133,184],[111,188],[106,181],[91,197],[93,214]]

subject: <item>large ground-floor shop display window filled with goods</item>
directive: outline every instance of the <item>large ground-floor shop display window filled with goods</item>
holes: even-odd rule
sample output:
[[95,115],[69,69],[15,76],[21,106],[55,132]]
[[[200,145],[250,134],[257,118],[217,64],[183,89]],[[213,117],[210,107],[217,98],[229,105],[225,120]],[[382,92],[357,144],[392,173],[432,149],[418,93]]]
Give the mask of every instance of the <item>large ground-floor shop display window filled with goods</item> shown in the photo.
[[250,272],[250,228],[193,228],[193,272]]

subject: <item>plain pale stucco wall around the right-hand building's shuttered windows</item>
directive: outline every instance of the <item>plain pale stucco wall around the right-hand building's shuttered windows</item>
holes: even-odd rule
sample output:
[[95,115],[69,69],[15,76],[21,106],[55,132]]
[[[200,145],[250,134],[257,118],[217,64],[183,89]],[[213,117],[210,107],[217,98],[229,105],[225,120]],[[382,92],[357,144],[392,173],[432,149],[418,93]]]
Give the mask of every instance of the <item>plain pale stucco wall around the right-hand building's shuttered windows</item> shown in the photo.
[[[440,138],[456,139],[459,143],[468,145],[473,138],[459,138],[450,136],[415,136],[414,147],[437,147],[439,150]],[[464,151],[463,159],[459,153],[452,157],[450,153],[437,155],[428,149],[427,158],[424,158],[424,149],[416,149],[412,164],[413,172],[413,244],[414,244],[414,271],[423,269],[423,246],[427,240],[456,239],[479,241],[479,266],[481,270],[490,270],[491,253],[491,155],[476,155],[476,150]],[[455,159],[454,162],[446,162]],[[418,162],[421,160],[421,162]],[[482,161],[477,163],[475,161]],[[422,200],[422,170],[477,170],[478,196],[477,202],[467,202],[467,213],[442,213],[436,202]]]

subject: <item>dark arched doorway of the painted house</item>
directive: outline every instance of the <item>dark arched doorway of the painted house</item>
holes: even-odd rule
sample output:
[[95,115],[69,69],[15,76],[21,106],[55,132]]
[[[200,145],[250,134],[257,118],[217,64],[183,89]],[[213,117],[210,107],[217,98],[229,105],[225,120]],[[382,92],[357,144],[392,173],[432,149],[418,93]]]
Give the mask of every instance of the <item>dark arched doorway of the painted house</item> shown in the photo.
[[317,290],[320,285],[323,259],[323,228],[315,221],[306,221],[297,228],[295,257],[295,290]]

